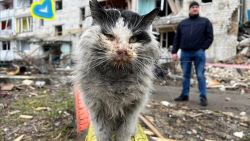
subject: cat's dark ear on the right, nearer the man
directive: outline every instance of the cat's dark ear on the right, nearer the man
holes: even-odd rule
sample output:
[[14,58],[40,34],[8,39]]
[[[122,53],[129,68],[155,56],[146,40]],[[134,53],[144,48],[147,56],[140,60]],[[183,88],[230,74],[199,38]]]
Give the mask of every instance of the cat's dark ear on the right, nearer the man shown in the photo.
[[158,15],[159,11],[160,10],[158,8],[155,8],[154,10],[149,12],[148,14],[143,15],[142,22],[140,23],[140,29],[142,29],[142,30],[148,29],[149,26],[154,21],[155,17]]

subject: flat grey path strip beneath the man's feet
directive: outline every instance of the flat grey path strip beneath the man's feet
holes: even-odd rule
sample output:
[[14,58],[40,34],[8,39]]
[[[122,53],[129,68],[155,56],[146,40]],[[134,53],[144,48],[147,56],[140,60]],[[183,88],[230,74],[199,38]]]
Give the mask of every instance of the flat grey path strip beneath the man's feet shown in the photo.
[[[165,100],[175,103],[174,98],[181,93],[180,86],[155,85],[155,89],[152,99],[158,102]],[[220,91],[219,89],[208,89],[207,93],[207,107],[199,105],[199,91],[196,86],[190,90],[189,102],[178,104],[192,109],[232,112],[235,115],[246,112],[246,115],[250,117],[250,93],[241,94],[240,90]]]

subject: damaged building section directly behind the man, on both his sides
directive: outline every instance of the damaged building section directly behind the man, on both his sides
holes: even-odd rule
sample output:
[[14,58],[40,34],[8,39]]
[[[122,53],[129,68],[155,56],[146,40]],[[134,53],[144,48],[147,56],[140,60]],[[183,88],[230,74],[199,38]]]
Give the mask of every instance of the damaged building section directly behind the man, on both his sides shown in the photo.
[[[157,19],[153,26],[160,33],[162,47],[170,48],[177,25],[188,17],[189,4],[193,0],[165,0],[166,16]],[[241,14],[239,0],[197,0],[201,16],[213,24],[214,42],[207,51],[213,61],[225,60],[236,55],[238,24]]]

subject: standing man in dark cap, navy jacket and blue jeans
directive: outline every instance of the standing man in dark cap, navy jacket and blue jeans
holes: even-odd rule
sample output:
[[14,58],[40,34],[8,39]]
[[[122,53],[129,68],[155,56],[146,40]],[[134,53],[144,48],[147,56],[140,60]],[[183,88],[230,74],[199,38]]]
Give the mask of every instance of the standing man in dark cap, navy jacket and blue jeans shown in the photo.
[[205,78],[205,50],[213,42],[213,27],[211,22],[199,16],[199,3],[193,1],[189,6],[189,18],[183,20],[177,27],[172,59],[178,59],[177,52],[181,49],[181,67],[183,71],[182,92],[175,101],[188,101],[192,62],[198,79],[200,104],[207,106],[207,90]]

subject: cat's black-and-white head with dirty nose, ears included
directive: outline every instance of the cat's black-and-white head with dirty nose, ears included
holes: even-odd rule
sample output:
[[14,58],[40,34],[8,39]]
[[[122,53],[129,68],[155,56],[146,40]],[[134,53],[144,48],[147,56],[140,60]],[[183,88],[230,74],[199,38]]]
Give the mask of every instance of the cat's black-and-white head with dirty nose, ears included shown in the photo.
[[124,66],[147,58],[147,45],[153,36],[148,32],[158,10],[140,16],[130,11],[103,9],[96,0],[90,1],[91,14],[100,27],[99,52],[114,66]]

